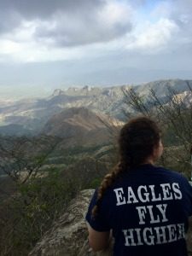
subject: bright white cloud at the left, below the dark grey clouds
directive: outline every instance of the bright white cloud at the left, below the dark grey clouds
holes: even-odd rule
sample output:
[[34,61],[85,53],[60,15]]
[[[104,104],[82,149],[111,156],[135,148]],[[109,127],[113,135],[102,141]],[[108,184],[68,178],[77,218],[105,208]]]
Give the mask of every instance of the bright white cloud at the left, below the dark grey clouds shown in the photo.
[[78,48],[55,48],[49,46],[49,38],[38,42],[33,37],[40,20],[22,21],[15,32],[7,33],[0,39],[0,61],[35,62],[78,59],[82,56]]

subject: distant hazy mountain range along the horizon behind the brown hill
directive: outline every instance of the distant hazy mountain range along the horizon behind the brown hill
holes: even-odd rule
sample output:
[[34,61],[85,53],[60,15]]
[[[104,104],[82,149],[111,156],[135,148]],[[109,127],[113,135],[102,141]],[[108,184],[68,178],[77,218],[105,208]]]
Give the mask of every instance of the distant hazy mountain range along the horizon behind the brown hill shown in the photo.
[[[188,82],[192,87],[192,80],[188,80]],[[167,94],[167,87],[176,90],[181,97],[182,95],[187,96],[187,91],[189,91],[186,81],[180,79],[140,84],[134,86],[134,89],[140,95],[148,96],[148,91],[152,88],[157,96],[163,98]],[[122,108],[125,108],[122,90],[128,90],[129,88],[131,88],[131,85],[108,88],[84,86],[84,88],[55,90],[47,98],[0,102],[0,134],[31,135],[38,134],[41,131],[48,131],[48,126],[51,122],[55,122],[56,119],[60,119],[61,123],[65,122],[63,119],[66,119],[67,112],[65,112],[64,116],[62,116],[62,112],[69,108],[88,108],[94,113],[105,113],[116,119],[122,119]],[[58,115],[59,113],[61,115]],[[79,121],[75,120],[73,110],[69,111],[69,113],[72,114],[73,126],[78,125]],[[55,114],[56,116],[53,117]],[[91,120],[89,113],[87,114],[88,116],[84,117],[84,119]],[[81,117],[81,121],[82,119]],[[66,121],[66,125],[69,125],[69,123],[69,121]],[[86,125],[88,124],[86,123]],[[59,132],[59,130],[56,131],[56,128],[54,129],[55,133]],[[52,132],[53,130],[50,131]]]

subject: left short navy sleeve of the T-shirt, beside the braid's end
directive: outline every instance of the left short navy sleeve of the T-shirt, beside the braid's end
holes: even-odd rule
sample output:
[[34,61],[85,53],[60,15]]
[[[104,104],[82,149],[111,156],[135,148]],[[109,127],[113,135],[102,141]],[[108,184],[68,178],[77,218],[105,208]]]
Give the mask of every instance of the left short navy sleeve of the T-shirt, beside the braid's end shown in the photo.
[[99,204],[98,213],[96,214],[96,217],[92,216],[92,209],[96,205],[96,199],[97,199],[97,189],[90,201],[90,206],[88,208],[88,212],[86,213],[85,219],[90,224],[90,227],[93,230],[99,231],[99,232],[107,232],[110,230],[110,227],[108,225],[108,220],[106,218],[107,214],[107,205],[104,204],[102,201],[101,204]]

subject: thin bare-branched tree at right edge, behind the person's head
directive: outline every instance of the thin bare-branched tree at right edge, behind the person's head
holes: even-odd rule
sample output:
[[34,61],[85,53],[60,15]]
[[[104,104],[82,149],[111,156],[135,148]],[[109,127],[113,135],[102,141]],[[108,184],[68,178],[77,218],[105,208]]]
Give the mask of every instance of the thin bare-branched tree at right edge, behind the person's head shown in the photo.
[[162,127],[165,154],[161,159],[164,166],[172,166],[191,177],[190,148],[192,144],[192,88],[183,96],[167,87],[166,96],[161,98],[153,89],[147,96],[141,96],[134,88],[123,90],[124,102],[129,111],[124,109],[128,118],[143,114],[155,119]]

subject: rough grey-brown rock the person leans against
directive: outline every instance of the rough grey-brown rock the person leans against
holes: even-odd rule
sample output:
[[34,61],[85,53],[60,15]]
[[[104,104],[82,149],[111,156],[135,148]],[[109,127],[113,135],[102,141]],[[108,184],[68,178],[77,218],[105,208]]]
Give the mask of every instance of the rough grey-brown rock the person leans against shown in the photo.
[[[84,216],[89,206],[93,189],[82,190],[76,199],[71,201],[67,212],[53,224],[52,229],[44,235],[28,256],[110,256],[108,251],[94,253],[89,247],[88,232]],[[192,221],[190,223],[190,227]],[[192,255],[192,232],[187,237],[189,255]]]

